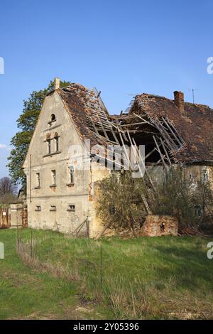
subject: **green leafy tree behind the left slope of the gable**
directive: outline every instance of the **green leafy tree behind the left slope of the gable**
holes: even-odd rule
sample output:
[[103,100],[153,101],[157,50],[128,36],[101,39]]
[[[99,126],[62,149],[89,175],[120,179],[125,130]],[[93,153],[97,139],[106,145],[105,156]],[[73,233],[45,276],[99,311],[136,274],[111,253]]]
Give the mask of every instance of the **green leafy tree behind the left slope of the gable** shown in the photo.
[[[60,87],[67,85],[70,85],[69,81],[60,82]],[[48,92],[53,90],[53,87],[54,82],[50,81],[47,88],[39,90],[38,92],[32,92],[30,97],[23,101],[23,112],[17,120],[18,129],[20,129],[20,131],[11,139],[13,149],[8,158],[9,175],[13,183],[22,183],[23,186],[26,185],[26,177],[22,170],[23,161],[26,158],[28,146],[31,142],[45,96]]]

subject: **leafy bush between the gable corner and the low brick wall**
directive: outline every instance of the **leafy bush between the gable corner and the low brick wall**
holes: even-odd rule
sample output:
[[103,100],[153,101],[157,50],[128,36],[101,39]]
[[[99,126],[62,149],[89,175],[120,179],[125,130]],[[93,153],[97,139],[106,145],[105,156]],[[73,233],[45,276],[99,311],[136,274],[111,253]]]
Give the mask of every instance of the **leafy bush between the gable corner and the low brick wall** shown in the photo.
[[131,171],[112,173],[100,181],[99,189],[99,217],[105,225],[133,230],[143,223],[146,210],[141,193],[146,193],[147,188],[142,180],[131,177]]

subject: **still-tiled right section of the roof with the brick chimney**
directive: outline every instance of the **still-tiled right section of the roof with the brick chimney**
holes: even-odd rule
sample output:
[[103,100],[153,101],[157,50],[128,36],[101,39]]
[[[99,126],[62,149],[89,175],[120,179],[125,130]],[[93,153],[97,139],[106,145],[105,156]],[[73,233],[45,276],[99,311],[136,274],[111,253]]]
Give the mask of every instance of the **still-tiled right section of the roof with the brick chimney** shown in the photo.
[[167,122],[172,124],[177,138],[183,143],[180,149],[173,149],[173,156],[178,161],[213,161],[213,110],[207,105],[184,102],[181,92],[175,92],[175,95],[175,100],[137,95],[129,114],[144,115],[153,124],[161,122],[166,129]]

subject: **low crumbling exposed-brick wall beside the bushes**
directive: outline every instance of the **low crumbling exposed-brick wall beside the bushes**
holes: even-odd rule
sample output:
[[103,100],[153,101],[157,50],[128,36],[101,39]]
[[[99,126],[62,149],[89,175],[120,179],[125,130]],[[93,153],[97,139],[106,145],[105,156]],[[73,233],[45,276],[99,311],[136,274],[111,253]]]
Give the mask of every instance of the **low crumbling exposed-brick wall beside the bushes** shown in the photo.
[[143,225],[142,235],[148,237],[177,236],[178,221],[170,216],[148,215]]

